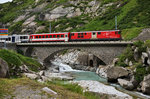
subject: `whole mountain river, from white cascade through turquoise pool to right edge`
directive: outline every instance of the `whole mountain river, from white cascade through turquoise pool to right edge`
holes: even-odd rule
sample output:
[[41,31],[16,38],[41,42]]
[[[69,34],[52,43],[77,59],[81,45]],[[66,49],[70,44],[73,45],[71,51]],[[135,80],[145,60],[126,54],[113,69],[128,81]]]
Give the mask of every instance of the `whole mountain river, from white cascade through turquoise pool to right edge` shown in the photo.
[[[74,70],[72,69],[69,65],[63,64],[63,63],[57,63],[57,62],[52,62],[53,65],[59,66],[59,71],[60,72],[69,72],[71,75],[75,78],[73,81],[86,81],[86,82],[91,82],[91,81],[97,81],[100,82],[99,85],[104,84],[104,85],[109,85],[114,87],[120,92],[123,92],[125,94],[128,94],[130,96],[138,97],[138,98],[143,98],[143,99],[150,99],[150,96],[144,95],[143,93],[136,92],[136,91],[128,91],[124,88],[122,88],[120,85],[116,83],[108,83],[107,79],[98,76],[95,72],[89,72],[89,71],[80,71],[80,70]],[[96,82],[96,83],[97,83]],[[98,85],[97,85],[98,86]],[[105,86],[106,87],[106,86]],[[110,88],[109,88],[110,89]],[[114,90],[114,89],[112,89]]]

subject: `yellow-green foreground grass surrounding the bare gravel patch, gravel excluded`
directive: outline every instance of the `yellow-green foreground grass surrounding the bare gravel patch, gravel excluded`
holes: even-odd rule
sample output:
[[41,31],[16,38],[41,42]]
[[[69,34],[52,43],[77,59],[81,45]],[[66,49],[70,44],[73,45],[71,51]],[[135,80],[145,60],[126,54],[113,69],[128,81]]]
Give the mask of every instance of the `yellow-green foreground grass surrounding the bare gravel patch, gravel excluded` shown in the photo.
[[[11,96],[14,97],[15,94],[13,92],[18,87],[26,86],[29,89],[32,90],[41,90],[44,87],[48,87],[55,92],[58,93],[58,96],[56,99],[107,99],[100,98],[100,95],[91,93],[91,92],[85,92],[83,94],[83,89],[74,84],[62,84],[62,83],[56,83],[56,81],[48,82],[41,84],[37,81],[30,80],[28,78],[17,78],[17,79],[2,79],[0,78],[0,98],[3,99],[5,96]],[[41,95],[49,95],[50,97],[53,96],[51,94],[46,93],[40,93]],[[104,97],[101,96],[101,97]]]

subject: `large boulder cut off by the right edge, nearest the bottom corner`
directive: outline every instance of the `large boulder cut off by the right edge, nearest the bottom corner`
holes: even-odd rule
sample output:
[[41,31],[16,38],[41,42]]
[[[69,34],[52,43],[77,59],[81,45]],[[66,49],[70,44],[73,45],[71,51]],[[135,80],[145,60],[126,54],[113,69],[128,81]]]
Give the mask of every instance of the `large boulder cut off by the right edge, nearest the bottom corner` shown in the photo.
[[141,86],[142,92],[150,95],[150,74],[144,77]]

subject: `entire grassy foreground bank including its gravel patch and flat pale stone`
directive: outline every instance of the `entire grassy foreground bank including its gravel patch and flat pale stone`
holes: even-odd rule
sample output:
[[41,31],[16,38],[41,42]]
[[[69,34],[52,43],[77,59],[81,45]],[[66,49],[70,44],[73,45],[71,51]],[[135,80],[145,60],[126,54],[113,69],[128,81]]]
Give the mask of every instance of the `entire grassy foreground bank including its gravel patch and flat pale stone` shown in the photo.
[[[83,93],[76,84],[58,80],[39,83],[26,77],[0,78],[0,99],[99,99],[94,93]],[[105,99],[105,98],[101,98]]]

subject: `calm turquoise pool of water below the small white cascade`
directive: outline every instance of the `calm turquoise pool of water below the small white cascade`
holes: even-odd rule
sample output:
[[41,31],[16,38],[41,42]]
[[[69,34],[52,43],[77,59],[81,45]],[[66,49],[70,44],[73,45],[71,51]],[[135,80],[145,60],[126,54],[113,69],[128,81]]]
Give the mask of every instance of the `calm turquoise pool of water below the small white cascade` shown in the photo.
[[72,75],[75,77],[74,80],[93,80],[93,81],[100,81],[102,83],[107,83],[107,80],[98,76],[95,72],[71,72]]

